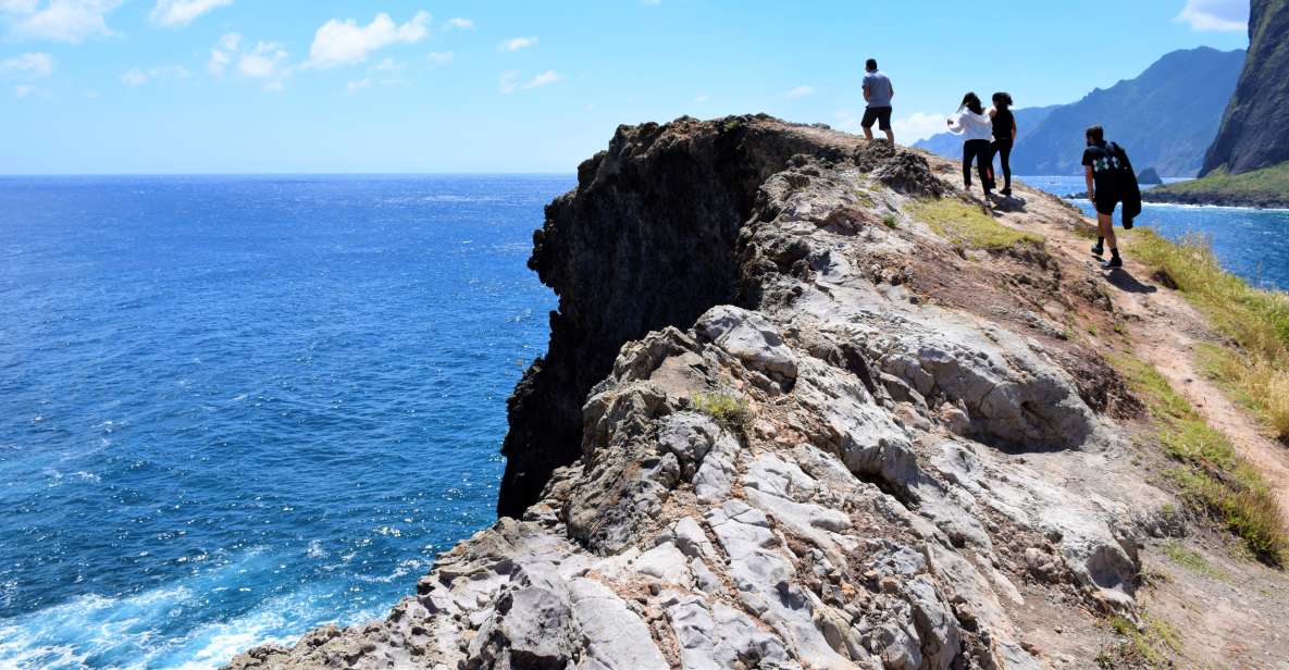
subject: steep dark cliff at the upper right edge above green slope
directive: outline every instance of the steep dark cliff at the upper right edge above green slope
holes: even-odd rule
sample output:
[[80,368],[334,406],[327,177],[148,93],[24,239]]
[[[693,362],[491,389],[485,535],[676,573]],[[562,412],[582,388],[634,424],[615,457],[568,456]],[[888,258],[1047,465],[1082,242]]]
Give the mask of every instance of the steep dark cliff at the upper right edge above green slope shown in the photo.
[[1289,3],[1252,0],[1249,54],[1204,177],[1219,168],[1240,174],[1289,161]]

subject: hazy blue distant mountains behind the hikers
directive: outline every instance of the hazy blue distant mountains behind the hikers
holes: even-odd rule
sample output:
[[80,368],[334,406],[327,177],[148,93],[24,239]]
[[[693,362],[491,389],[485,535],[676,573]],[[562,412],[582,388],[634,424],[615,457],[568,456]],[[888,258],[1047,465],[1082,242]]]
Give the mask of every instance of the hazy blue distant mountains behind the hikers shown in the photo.
[[[1084,130],[1093,124],[1120,143],[1139,169],[1164,177],[1194,177],[1235,91],[1245,52],[1208,46],[1165,54],[1145,72],[1083,99],[1016,110],[1016,174],[1081,174]],[[959,157],[962,140],[944,133],[915,147]]]

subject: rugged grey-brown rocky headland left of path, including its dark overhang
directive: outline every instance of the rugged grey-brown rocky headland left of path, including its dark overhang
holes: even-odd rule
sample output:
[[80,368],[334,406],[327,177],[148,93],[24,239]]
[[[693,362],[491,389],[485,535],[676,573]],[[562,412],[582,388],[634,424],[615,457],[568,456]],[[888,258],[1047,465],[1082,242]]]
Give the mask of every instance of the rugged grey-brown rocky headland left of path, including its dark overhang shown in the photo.
[[[991,216],[955,175],[763,116],[620,128],[535,236],[561,311],[510,406],[516,518],[440,555],[387,618],[231,667],[1118,657],[1156,603],[1169,612],[1160,594],[1204,585],[1143,580],[1194,518],[1098,350],[1145,323],[1203,325],[1141,282],[1107,283],[1078,210],[1018,186]],[[1094,325],[1116,339],[1081,335]],[[1289,607],[1279,573],[1240,570],[1204,602]],[[1274,631],[1244,621],[1195,646],[1263,667],[1248,647]]]

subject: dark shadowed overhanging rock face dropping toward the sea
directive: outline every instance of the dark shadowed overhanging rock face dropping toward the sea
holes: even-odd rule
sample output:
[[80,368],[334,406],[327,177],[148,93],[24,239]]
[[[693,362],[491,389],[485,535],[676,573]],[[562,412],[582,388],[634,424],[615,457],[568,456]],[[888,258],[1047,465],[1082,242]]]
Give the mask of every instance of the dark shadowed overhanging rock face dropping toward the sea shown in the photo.
[[793,155],[826,156],[837,137],[763,116],[683,117],[621,126],[607,151],[577,168],[577,188],[547,207],[534,233],[528,267],[554,289],[559,309],[547,356],[509,401],[499,514],[522,514],[550,473],[580,456],[583,401],[623,343],[748,302],[736,238],[757,188]]

